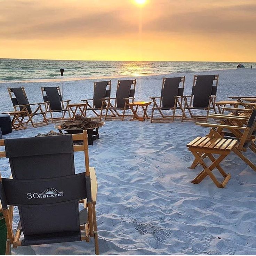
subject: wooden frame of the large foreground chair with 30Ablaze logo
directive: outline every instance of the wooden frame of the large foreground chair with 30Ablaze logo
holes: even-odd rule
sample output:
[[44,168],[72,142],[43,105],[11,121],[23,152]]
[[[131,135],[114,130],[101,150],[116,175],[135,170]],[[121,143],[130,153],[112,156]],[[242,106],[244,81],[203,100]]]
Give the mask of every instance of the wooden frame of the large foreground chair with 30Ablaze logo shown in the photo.
[[[58,136],[58,135],[56,135]],[[79,203],[83,204],[84,208],[87,208],[88,211],[88,223],[81,225],[81,240],[85,240],[86,242],[90,241],[90,237],[94,237],[94,244],[95,244],[95,254],[99,255],[99,245],[98,245],[98,232],[97,232],[97,222],[96,222],[96,199],[97,199],[97,179],[95,174],[94,167],[89,167],[89,154],[88,154],[88,143],[87,143],[87,131],[83,130],[82,134],[72,134],[73,141],[83,141],[83,145],[75,145],[73,146],[74,152],[84,151],[85,157],[85,175],[88,177],[90,176],[91,179],[91,197],[92,202],[87,202],[86,199],[80,200]],[[4,139],[0,140],[0,146],[4,146],[5,142]],[[5,151],[0,152],[0,157],[6,157]],[[11,177],[10,177],[11,178]],[[1,181],[1,174],[0,174],[0,181]],[[7,209],[2,209],[3,216],[6,220],[7,226],[7,245],[6,248],[10,248],[10,244],[13,245],[13,248],[17,248],[21,246],[22,240],[21,237],[21,230],[17,229],[16,233],[13,233],[13,206],[7,207]],[[9,249],[7,251],[9,253]]]

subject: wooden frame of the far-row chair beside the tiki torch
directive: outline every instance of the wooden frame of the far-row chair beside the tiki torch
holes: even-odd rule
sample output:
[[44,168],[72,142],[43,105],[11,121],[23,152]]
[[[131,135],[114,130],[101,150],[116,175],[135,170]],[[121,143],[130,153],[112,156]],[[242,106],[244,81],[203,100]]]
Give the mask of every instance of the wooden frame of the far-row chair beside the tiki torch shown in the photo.
[[[51,122],[53,123],[54,121],[61,121],[61,120],[70,120],[71,119],[71,114],[70,114],[70,109],[69,109],[69,102],[71,101],[70,99],[66,100],[66,101],[63,101],[62,100],[62,95],[61,95],[61,89],[59,88],[59,86],[56,86],[57,90],[58,90],[58,94],[59,94],[59,97],[61,98],[61,106],[62,106],[62,111],[55,111],[55,110],[51,110],[51,106],[50,106],[50,102],[47,101],[47,104],[45,106],[45,109],[46,109],[46,113],[50,113],[51,115],[51,118],[47,118],[47,120],[51,120]],[[42,96],[45,97],[47,96],[46,95],[46,92],[45,92],[45,87],[41,87],[41,91],[42,91]],[[66,103],[66,106],[65,104]],[[61,112],[63,113],[62,114],[62,117],[53,117],[53,113],[57,113],[57,112]],[[66,112],[69,113],[69,118],[65,118],[65,115],[66,115]]]

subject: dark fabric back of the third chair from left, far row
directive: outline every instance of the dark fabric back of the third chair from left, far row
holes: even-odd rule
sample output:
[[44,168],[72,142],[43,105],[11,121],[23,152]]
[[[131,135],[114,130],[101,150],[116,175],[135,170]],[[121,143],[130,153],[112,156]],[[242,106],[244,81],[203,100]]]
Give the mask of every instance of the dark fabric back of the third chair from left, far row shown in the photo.
[[[109,86],[108,90],[107,90],[107,86]],[[101,105],[102,105],[101,99],[110,98],[110,92],[111,92],[111,80],[94,82],[93,106],[95,109],[101,108]]]

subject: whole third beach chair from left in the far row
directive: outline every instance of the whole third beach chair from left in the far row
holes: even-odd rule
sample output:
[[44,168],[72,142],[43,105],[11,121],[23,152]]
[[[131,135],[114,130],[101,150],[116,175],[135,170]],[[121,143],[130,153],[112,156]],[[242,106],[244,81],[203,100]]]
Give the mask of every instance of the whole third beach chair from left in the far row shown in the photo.
[[[102,111],[104,109],[102,99],[110,98],[110,93],[111,93],[111,80],[94,82],[93,99],[82,99],[82,101],[87,103],[86,109],[85,109],[85,116],[86,116],[87,110],[91,110],[101,120]],[[93,101],[93,106],[91,106],[91,104],[89,103],[90,101]],[[98,114],[96,110],[100,110],[101,112]]]

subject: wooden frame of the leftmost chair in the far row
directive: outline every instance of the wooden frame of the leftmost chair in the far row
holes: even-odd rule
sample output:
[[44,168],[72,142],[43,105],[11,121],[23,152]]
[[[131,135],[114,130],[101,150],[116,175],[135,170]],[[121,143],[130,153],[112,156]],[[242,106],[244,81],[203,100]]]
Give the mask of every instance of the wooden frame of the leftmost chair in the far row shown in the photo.
[[[23,94],[27,97],[24,87],[21,87],[21,88],[22,88]],[[8,90],[8,93],[9,93],[9,96],[10,96],[11,99],[16,98],[10,87],[8,87],[7,90]],[[41,126],[41,125],[48,125],[47,118],[46,118],[46,113],[47,112],[43,111],[42,106],[41,106],[41,105],[46,106],[47,104],[48,104],[47,102],[41,102],[41,103],[33,103],[33,104],[26,104],[26,105],[14,105],[13,107],[14,107],[14,111],[15,112],[23,112],[23,111],[25,111],[26,112],[25,117],[28,118],[27,121],[24,121],[25,117],[23,117],[21,119],[21,122],[18,122],[18,126],[19,125],[23,126],[24,124],[27,125],[29,122],[31,123],[31,125],[34,128],[37,127],[37,126]],[[27,105],[29,105],[30,107],[31,106],[37,106],[37,108],[34,111],[32,111],[32,109],[31,109],[31,113],[29,113],[29,111],[26,108]],[[11,114],[11,112],[6,112],[6,113]],[[33,122],[32,118],[35,115],[38,115],[38,114],[42,115],[43,121],[35,123],[35,122]],[[13,123],[13,125],[15,126],[15,123]]]

